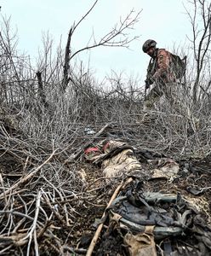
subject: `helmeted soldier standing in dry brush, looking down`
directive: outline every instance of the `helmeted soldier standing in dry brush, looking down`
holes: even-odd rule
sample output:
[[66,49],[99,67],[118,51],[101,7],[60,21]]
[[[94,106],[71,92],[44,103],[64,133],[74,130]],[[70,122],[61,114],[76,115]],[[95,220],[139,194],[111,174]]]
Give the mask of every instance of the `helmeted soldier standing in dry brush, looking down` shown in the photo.
[[[151,56],[151,61],[147,68],[147,75],[145,80],[145,90],[151,90],[145,96],[144,109],[151,109],[154,107],[161,96],[165,96],[171,105],[175,102],[175,83],[180,77],[176,72],[174,66],[174,57],[179,58],[177,55],[172,55],[166,49],[156,48],[157,42],[154,40],[146,40],[143,44],[143,51]],[[176,64],[178,66],[178,64]],[[183,71],[182,71],[183,72]]]

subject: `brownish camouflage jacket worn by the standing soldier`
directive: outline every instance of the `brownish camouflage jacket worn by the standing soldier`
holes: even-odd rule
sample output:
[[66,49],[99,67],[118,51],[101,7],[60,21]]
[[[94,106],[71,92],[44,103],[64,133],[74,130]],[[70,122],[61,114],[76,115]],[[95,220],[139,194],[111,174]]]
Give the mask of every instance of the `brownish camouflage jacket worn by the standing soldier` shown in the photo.
[[164,83],[174,82],[176,80],[171,68],[171,54],[166,49],[157,49],[155,58],[151,58],[147,68],[147,77],[153,81],[162,81]]

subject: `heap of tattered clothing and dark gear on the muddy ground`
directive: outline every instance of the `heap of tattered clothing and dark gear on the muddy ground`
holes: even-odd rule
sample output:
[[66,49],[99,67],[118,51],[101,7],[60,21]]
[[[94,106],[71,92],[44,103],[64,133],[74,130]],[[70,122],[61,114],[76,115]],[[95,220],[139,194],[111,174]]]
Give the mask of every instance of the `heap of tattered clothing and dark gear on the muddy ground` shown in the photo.
[[156,154],[145,151],[138,161],[135,152],[141,154],[139,150],[113,140],[106,142],[106,147],[99,144],[96,148],[97,154],[89,158],[87,148],[85,157],[93,164],[101,162],[105,177],[125,177],[125,184],[106,207],[96,231],[100,239],[95,245],[95,233],[87,255],[211,253],[208,195],[202,193],[206,187],[197,189],[197,183],[190,183],[191,178],[202,178],[191,172],[190,163],[160,155],[156,158]]

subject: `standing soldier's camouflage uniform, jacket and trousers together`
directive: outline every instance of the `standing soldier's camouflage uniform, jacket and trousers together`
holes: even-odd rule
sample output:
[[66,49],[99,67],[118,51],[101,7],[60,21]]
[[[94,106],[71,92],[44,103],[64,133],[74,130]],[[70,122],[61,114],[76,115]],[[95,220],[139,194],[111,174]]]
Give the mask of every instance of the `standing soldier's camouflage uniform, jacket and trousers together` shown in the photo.
[[166,49],[156,49],[147,68],[147,81],[151,90],[145,96],[145,107],[153,108],[161,96],[165,95],[170,104],[174,104],[176,77],[171,68],[171,54]]

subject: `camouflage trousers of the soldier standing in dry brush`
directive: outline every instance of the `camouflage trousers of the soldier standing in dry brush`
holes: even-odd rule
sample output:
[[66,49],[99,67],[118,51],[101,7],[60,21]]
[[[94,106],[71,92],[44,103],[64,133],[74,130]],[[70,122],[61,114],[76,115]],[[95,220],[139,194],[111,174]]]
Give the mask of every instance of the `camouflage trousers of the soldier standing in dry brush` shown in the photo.
[[154,108],[155,103],[160,100],[162,96],[165,96],[171,106],[174,106],[178,102],[178,84],[167,83],[167,84],[151,84],[151,90],[145,96],[144,106],[147,109]]

